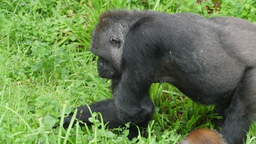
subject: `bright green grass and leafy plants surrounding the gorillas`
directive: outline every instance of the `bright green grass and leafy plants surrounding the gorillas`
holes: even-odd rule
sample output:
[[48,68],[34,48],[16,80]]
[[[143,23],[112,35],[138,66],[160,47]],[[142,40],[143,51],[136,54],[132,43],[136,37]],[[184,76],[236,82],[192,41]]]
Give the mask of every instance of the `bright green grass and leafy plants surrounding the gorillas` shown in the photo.
[[[110,9],[151,9],[256,22],[254,0],[2,0],[0,2],[0,143],[177,143],[189,131],[214,127],[213,106],[193,103],[178,89],[154,84],[153,121],[132,141],[129,130],[108,130],[92,114],[92,127],[63,129],[73,107],[108,99],[110,81],[97,76],[88,47],[98,16]],[[62,117],[59,119],[59,117]],[[129,127],[129,124],[127,124]],[[256,143],[256,123],[247,143]]]

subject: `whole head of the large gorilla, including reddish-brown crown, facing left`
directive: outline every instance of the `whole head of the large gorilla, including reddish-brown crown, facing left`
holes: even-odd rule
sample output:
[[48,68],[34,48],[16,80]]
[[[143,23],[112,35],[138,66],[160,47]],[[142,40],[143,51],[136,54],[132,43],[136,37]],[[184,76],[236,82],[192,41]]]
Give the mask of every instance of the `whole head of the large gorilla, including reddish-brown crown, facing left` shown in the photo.
[[124,39],[131,23],[129,12],[116,13],[109,11],[102,14],[91,38],[90,51],[98,56],[98,75],[106,79],[121,75]]

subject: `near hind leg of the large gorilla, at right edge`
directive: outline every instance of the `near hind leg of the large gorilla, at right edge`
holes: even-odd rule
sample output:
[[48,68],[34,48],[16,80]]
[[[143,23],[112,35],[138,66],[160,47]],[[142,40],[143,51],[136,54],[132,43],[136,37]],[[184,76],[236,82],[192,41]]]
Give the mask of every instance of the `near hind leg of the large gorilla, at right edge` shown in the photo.
[[222,133],[230,144],[243,143],[256,109],[256,68],[248,68],[225,113]]

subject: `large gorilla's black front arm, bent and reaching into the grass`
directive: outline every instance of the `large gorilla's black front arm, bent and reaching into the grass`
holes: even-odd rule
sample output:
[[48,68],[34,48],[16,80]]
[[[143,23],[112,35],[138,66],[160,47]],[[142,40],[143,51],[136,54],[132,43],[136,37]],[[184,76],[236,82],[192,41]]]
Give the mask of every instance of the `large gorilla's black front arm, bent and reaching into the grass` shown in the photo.
[[[155,46],[155,40],[152,40],[154,38],[148,37],[154,35],[149,34],[153,30],[138,25],[139,23],[136,23],[136,27],[133,27],[126,36],[123,72],[120,80],[112,80],[113,98],[89,105],[92,112],[100,112],[104,122],[109,122],[109,128],[116,128],[125,122],[146,127],[154,112],[149,88],[158,67],[159,50]],[[90,125],[89,117],[91,115],[87,106],[78,108],[77,119]],[[71,118],[72,114],[65,118],[65,127],[68,126]]]

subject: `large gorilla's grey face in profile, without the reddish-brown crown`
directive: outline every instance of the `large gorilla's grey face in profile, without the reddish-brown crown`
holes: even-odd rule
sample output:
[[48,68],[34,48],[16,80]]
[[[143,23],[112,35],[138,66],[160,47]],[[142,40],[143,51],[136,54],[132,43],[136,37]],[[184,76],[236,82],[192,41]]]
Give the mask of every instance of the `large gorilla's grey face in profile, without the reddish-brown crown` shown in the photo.
[[98,23],[91,38],[90,51],[98,56],[98,75],[106,79],[115,79],[121,75],[123,52],[123,33],[115,33],[113,26]]

